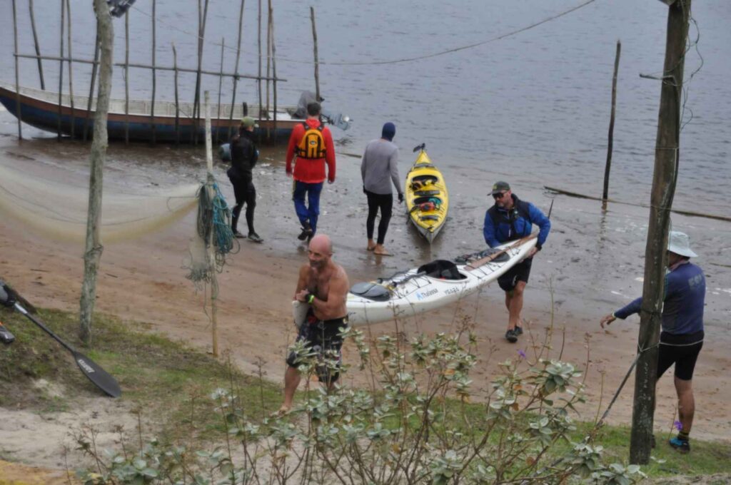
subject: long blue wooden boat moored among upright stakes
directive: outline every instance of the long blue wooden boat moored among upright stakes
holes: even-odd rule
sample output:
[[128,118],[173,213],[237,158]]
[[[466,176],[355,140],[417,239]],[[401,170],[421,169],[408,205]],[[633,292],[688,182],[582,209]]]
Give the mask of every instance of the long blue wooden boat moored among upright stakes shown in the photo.
[[[87,110],[87,96],[73,96],[74,108],[71,107],[71,96],[61,96],[61,107],[58,106],[58,93],[41,91],[34,88],[20,88],[20,107],[14,85],[0,83],[0,102],[12,115],[23,123],[28,123],[38,129],[51,131],[68,137],[83,138],[86,127],[86,137],[91,139],[94,131],[94,110],[96,98],[91,100],[91,110]],[[175,123],[175,103],[156,101],[154,117],[151,117],[152,102],[136,99],[129,100],[129,109],[125,110],[124,99],[110,99],[109,115],[107,116],[107,132],[110,140],[126,140],[148,142],[181,142],[190,143],[196,138],[200,143],[205,140],[205,113],[196,122],[193,118],[193,103],[178,104],[178,126]],[[259,128],[255,134],[260,140],[269,142],[287,142],[292,129],[302,123],[301,119],[293,118],[295,107],[278,107],[276,121],[274,113],[266,115],[266,108],[260,110],[256,105],[240,104],[233,107],[231,118],[231,104],[211,105],[211,136],[214,142],[223,142],[229,139],[230,134],[238,127],[240,118],[249,115],[257,120]],[[125,113],[127,112],[127,114]],[[58,123],[59,116],[61,123]]]

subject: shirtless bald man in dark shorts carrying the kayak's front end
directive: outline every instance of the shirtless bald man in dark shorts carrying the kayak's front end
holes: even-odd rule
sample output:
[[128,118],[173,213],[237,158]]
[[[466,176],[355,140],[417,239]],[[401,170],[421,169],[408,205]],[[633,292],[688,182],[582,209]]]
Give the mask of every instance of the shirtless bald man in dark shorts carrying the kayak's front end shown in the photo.
[[[300,277],[295,290],[295,299],[308,303],[310,308],[306,321],[300,326],[297,340],[317,351],[320,359],[326,354],[337,356],[338,367],[342,359],[343,339],[340,328],[348,326],[345,300],[350,288],[348,275],[333,261],[333,243],[325,234],[318,234],[310,241],[309,264],[300,267]],[[292,408],[295,391],[300,384],[297,355],[287,356],[287,372],[284,373],[284,403],[280,411]],[[327,365],[318,366],[317,377],[328,389],[338,380],[339,373]]]

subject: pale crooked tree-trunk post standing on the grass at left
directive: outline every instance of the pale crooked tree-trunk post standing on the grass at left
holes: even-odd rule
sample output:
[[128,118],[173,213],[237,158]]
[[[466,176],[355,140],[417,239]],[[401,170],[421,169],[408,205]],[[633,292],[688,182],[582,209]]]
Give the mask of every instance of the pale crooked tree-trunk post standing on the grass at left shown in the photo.
[[96,272],[102,257],[100,225],[102,222],[102,186],[104,164],[107,156],[107,112],[109,95],[112,91],[112,56],[114,27],[106,0],[94,0],[96,25],[99,33],[101,65],[99,67],[99,93],[96,96],[94,112],[94,140],[91,142],[91,177],[89,180],[89,207],[86,222],[86,251],[84,252],[84,282],[81,286],[79,337],[88,343],[91,340],[91,317],[96,299]]

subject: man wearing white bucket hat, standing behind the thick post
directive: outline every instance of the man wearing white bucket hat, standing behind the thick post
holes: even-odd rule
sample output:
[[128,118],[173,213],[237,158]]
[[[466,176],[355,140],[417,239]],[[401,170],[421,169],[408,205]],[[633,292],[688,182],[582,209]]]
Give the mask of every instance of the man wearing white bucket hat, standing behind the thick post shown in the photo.
[[[690,248],[687,234],[670,231],[657,378],[675,364],[675,392],[678,393],[681,428],[678,436],[670,440],[670,446],[682,453],[690,451],[689,433],[695,411],[692,378],[695,362],[703,346],[705,276],[700,267],[690,262],[690,258],[696,256],[698,255]],[[641,305],[642,297],[621,310],[610,313],[602,318],[602,328],[616,318],[624,320],[632,313],[639,313]]]

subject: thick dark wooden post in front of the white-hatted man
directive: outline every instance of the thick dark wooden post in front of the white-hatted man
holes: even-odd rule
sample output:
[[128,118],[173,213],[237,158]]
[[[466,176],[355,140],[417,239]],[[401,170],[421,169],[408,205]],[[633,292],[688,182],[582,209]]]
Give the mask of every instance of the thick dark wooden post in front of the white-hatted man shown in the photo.
[[645,282],[640,308],[640,335],[637,339],[640,356],[635,371],[635,401],[629,446],[629,461],[637,465],[647,464],[651,452],[658,342],[667,264],[665,255],[670,209],[675,195],[675,175],[678,173],[683,65],[690,8],[691,0],[675,0],[668,7],[667,14],[665,64],[645,247]]

